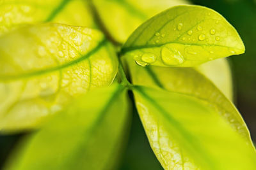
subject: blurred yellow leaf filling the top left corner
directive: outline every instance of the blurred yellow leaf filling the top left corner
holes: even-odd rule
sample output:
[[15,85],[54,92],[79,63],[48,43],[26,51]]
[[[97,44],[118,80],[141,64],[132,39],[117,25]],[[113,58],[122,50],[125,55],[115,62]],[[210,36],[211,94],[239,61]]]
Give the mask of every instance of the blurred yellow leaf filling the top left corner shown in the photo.
[[56,22],[95,28],[88,1],[0,1],[0,35],[26,24]]

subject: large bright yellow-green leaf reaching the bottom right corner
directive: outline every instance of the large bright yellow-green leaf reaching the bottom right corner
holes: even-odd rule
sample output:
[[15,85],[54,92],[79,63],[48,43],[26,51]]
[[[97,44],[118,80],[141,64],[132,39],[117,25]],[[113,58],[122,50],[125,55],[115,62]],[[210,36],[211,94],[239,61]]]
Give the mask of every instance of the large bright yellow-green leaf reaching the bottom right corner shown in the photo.
[[136,107],[164,169],[255,169],[255,149],[202,100],[134,87]]

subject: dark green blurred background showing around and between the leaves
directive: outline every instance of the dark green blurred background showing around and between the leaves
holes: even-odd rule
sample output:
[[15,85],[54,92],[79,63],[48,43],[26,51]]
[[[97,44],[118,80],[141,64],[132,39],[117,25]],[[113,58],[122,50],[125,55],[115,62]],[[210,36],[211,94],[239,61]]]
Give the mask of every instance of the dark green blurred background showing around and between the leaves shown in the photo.
[[[221,13],[244,41],[246,53],[232,56],[228,61],[234,78],[235,104],[256,141],[256,0],[192,0],[191,3]],[[163,169],[150,149],[136,110],[132,115],[131,134],[120,169]],[[22,135],[0,136],[0,169]]]

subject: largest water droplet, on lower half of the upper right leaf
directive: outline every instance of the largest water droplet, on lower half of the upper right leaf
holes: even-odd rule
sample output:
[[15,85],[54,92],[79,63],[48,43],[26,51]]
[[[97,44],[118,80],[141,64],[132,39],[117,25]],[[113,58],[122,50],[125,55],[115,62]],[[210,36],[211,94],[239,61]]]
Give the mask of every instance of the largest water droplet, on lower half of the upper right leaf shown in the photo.
[[175,52],[167,47],[163,47],[161,51],[161,58],[166,65],[177,66],[184,62],[182,55],[180,52]]

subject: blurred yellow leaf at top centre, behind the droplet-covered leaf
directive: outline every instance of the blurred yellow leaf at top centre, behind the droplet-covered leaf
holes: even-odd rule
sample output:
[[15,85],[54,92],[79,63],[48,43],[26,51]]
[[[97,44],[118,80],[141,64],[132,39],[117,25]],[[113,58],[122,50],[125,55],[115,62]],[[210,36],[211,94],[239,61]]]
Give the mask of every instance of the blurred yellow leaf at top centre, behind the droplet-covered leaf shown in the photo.
[[111,37],[124,43],[148,18],[171,6],[187,3],[186,0],[93,0],[92,8]]

